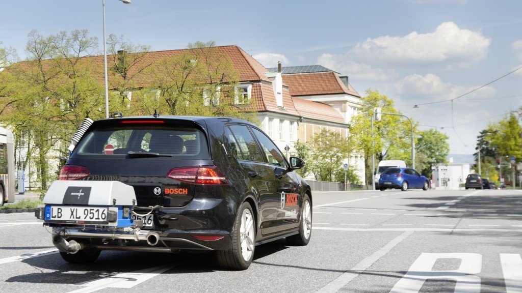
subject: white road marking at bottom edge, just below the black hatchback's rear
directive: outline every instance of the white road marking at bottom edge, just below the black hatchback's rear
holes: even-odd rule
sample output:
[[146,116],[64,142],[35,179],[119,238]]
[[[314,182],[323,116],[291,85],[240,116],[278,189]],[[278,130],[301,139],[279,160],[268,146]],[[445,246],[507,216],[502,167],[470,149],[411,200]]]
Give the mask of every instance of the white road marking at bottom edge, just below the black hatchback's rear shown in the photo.
[[89,282],[82,282],[74,284],[76,286],[87,286],[85,288],[81,288],[78,290],[71,291],[69,293],[89,293],[98,291],[105,288],[132,288],[140,283],[145,282],[146,280],[153,278],[163,272],[170,270],[171,268],[180,265],[177,264],[169,264],[162,265],[156,267],[146,268],[145,270],[139,270],[135,272],[121,273],[114,276],[100,278],[96,280],[92,280]]

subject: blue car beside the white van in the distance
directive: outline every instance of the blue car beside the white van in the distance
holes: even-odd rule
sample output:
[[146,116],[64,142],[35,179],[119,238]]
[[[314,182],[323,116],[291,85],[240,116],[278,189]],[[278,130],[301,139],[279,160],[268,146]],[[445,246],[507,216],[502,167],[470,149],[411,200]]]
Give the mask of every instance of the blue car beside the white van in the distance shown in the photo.
[[400,188],[402,191],[409,188],[430,188],[430,179],[421,175],[412,168],[389,168],[379,178],[379,189]]

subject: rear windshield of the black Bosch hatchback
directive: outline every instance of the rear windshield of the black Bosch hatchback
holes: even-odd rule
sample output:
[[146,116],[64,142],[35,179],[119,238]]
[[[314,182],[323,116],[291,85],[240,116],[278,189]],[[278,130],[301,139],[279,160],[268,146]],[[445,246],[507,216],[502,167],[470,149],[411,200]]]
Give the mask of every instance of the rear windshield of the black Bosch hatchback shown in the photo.
[[[165,156],[148,156],[147,153]],[[207,160],[210,158],[207,139],[198,129],[141,125],[118,125],[94,129],[80,141],[72,157],[125,158],[127,155],[167,159],[175,157]]]

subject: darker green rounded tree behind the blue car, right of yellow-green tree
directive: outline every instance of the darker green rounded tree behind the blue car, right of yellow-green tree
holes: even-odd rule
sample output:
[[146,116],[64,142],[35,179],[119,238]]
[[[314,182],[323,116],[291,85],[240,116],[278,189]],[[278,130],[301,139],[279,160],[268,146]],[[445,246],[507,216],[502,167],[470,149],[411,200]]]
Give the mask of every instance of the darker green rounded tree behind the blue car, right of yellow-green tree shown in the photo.
[[449,137],[436,129],[429,129],[419,132],[416,150],[418,154],[424,155],[424,162],[418,165],[417,169],[421,173],[431,178],[432,168],[447,164],[447,156],[449,154]]

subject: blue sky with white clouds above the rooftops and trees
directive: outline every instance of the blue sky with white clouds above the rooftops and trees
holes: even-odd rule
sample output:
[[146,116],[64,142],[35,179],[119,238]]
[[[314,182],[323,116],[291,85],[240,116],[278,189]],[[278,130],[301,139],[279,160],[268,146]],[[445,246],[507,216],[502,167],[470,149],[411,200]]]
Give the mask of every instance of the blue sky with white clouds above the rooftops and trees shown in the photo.
[[[102,0],[1,5],[0,42],[22,59],[33,29],[88,29],[102,52]],[[522,69],[458,96],[522,66],[521,11],[519,0],[105,0],[105,26],[151,51],[212,40],[266,67],[321,64],[348,75],[361,95],[394,99],[420,129],[447,133],[451,153],[472,154],[479,131],[522,105]]]

